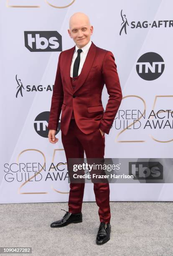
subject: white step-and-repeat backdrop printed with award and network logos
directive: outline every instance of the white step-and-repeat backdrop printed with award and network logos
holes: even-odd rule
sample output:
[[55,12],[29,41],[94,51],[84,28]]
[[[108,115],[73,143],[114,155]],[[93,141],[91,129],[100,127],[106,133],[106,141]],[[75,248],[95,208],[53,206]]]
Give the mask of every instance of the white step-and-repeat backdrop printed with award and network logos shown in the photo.
[[[122,87],[105,158],[132,159],[135,178],[111,183],[110,200],[173,200],[172,10],[172,0],[0,1],[0,203],[68,201],[61,123],[56,144],[47,126],[59,54],[74,46],[67,30],[76,12],[89,16],[93,43],[114,54]],[[104,109],[108,98],[104,86]],[[84,201],[95,201],[92,183]]]

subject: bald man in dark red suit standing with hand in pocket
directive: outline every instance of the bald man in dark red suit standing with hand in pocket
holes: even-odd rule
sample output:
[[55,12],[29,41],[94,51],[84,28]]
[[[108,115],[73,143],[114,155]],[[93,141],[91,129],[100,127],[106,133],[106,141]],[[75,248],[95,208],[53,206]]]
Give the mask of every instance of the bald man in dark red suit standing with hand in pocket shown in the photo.
[[[55,133],[61,113],[61,138],[66,159],[104,158],[104,133],[114,121],[122,100],[117,66],[111,51],[101,49],[90,40],[93,26],[84,13],[74,13],[69,20],[69,36],[75,46],[59,55],[56,79],[48,122],[48,139],[56,143]],[[102,106],[102,90],[107,87],[109,100]],[[67,164],[68,166],[68,164]],[[100,225],[96,243],[110,239],[109,183],[94,183],[99,206]],[[51,223],[59,228],[69,223],[82,222],[84,183],[70,183],[69,210],[61,220]]]

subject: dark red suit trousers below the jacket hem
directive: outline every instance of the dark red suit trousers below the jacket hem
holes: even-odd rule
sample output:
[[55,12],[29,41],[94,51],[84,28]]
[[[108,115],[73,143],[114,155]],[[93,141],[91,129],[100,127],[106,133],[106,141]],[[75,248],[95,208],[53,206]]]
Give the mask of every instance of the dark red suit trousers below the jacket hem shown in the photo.
[[[75,119],[71,119],[69,131],[66,135],[61,133],[66,160],[69,158],[84,158],[84,151],[87,158],[104,158],[105,139],[99,128],[90,134],[83,133],[76,125]],[[68,166],[68,164],[67,164]],[[85,183],[70,183],[69,212],[81,212]],[[109,183],[94,183],[94,194],[99,207],[100,222],[109,223]],[[92,210],[91,210],[92,211]]]

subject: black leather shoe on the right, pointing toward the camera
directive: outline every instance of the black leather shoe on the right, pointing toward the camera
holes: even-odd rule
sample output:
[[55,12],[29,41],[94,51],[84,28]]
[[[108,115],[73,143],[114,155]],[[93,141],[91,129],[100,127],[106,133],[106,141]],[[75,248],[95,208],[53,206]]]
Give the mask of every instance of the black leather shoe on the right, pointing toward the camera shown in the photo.
[[97,233],[96,243],[98,245],[104,244],[110,239],[111,225],[110,223],[105,224],[101,222]]

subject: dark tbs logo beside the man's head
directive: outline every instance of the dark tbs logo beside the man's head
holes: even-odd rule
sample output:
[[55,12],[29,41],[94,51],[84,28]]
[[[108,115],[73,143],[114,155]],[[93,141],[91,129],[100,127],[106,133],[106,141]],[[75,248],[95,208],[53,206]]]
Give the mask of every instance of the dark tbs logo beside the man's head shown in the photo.
[[57,31],[24,31],[29,51],[62,51],[62,36]]

